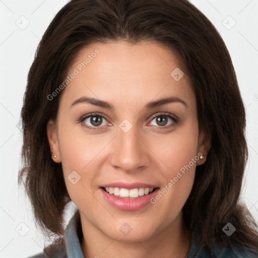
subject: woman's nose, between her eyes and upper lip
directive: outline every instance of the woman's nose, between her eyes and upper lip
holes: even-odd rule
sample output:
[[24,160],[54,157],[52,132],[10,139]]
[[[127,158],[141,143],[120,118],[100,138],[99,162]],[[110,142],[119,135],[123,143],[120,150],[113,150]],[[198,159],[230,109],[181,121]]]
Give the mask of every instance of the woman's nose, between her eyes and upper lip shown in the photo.
[[150,164],[148,141],[137,132],[133,126],[127,133],[118,128],[118,135],[112,142],[110,163],[116,169],[125,172],[139,172]]

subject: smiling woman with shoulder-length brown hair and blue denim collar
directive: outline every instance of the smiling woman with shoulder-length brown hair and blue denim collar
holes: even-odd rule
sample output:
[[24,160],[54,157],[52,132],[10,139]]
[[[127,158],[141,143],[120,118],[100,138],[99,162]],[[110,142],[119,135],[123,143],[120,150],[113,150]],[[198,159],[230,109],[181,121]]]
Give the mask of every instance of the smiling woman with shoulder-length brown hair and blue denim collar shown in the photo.
[[187,1],[69,2],[40,41],[22,119],[19,181],[56,236],[34,257],[257,257],[234,68]]

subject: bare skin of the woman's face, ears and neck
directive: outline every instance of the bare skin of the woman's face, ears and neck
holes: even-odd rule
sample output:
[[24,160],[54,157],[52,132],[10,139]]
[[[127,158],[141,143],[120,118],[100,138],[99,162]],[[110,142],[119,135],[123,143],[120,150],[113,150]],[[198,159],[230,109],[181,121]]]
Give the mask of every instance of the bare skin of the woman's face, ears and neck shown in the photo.
[[[171,51],[154,42],[129,44],[125,41],[95,43],[80,52],[71,66],[98,49],[100,52],[69,83],[61,95],[56,120],[49,120],[47,135],[54,162],[61,162],[72,201],[81,215],[84,256],[185,257],[190,239],[183,233],[182,207],[186,202],[197,165],[206,160],[208,136],[199,131],[196,97],[187,76],[175,81],[170,73],[178,61]],[[174,96],[186,104],[172,102],[144,109],[150,101]],[[111,103],[108,110],[89,103],[72,103],[92,97]],[[105,115],[96,126],[91,112]],[[164,128],[157,120],[169,117]],[[94,116],[94,115],[93,115]],[[161,115],[163,116],[163,115]],[[127,119],[132,128],[124,133],[119,124]],[[99,127],[89,130],[83,124]],[[204,155],[156,202],[138,211],[121,211],[102,196],[99,186],[114,181],[145,182],[161,189],[181,167],[198,153]],[[68,176],[77,171],[81,179],[72,184]],[[132,228],[123,235],[119,228]]]

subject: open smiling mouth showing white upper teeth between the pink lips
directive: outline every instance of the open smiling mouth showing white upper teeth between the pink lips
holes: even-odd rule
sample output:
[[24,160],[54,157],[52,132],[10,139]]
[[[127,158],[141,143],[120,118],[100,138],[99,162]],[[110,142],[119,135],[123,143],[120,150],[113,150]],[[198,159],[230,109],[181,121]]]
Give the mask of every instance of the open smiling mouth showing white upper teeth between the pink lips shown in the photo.
[[101,187],[101,188],[105,192],[109,193],[110,195],[114,195],[118,198],[136,199],[142,196],[150,195],[150,193],[152,193],[159,187],[154,187],[154,188],[141,187],[141,188],[134,188],[134,189],[126,189],[126,188],[119,188],[119,187]]

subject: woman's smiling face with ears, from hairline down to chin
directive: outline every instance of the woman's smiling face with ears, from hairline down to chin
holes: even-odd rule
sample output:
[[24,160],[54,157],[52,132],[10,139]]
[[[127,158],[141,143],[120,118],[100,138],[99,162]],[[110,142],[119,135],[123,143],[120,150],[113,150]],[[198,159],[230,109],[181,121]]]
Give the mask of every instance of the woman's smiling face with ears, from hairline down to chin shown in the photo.
[[182,72],[153,42],[96,43],[71,67],[47,132],[89,230],[142,241],[181,225],[207,145]]

